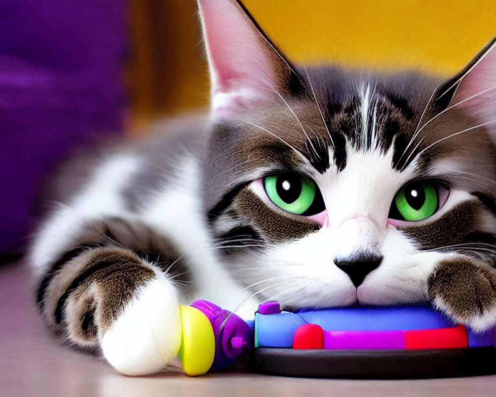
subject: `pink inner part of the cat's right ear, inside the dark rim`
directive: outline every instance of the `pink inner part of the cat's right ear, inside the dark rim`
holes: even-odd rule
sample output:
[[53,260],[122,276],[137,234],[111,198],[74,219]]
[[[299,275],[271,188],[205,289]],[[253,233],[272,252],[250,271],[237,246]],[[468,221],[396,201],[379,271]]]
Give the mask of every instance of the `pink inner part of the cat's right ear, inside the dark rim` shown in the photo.
[[[481,123],[496,122],[496,43],[463,77],[451,105],[462,101],[464,102],[460,107],[466,109]],[[489,128],[495,130],[494,125]],[[496,138],[496,135],[493,137]]]

